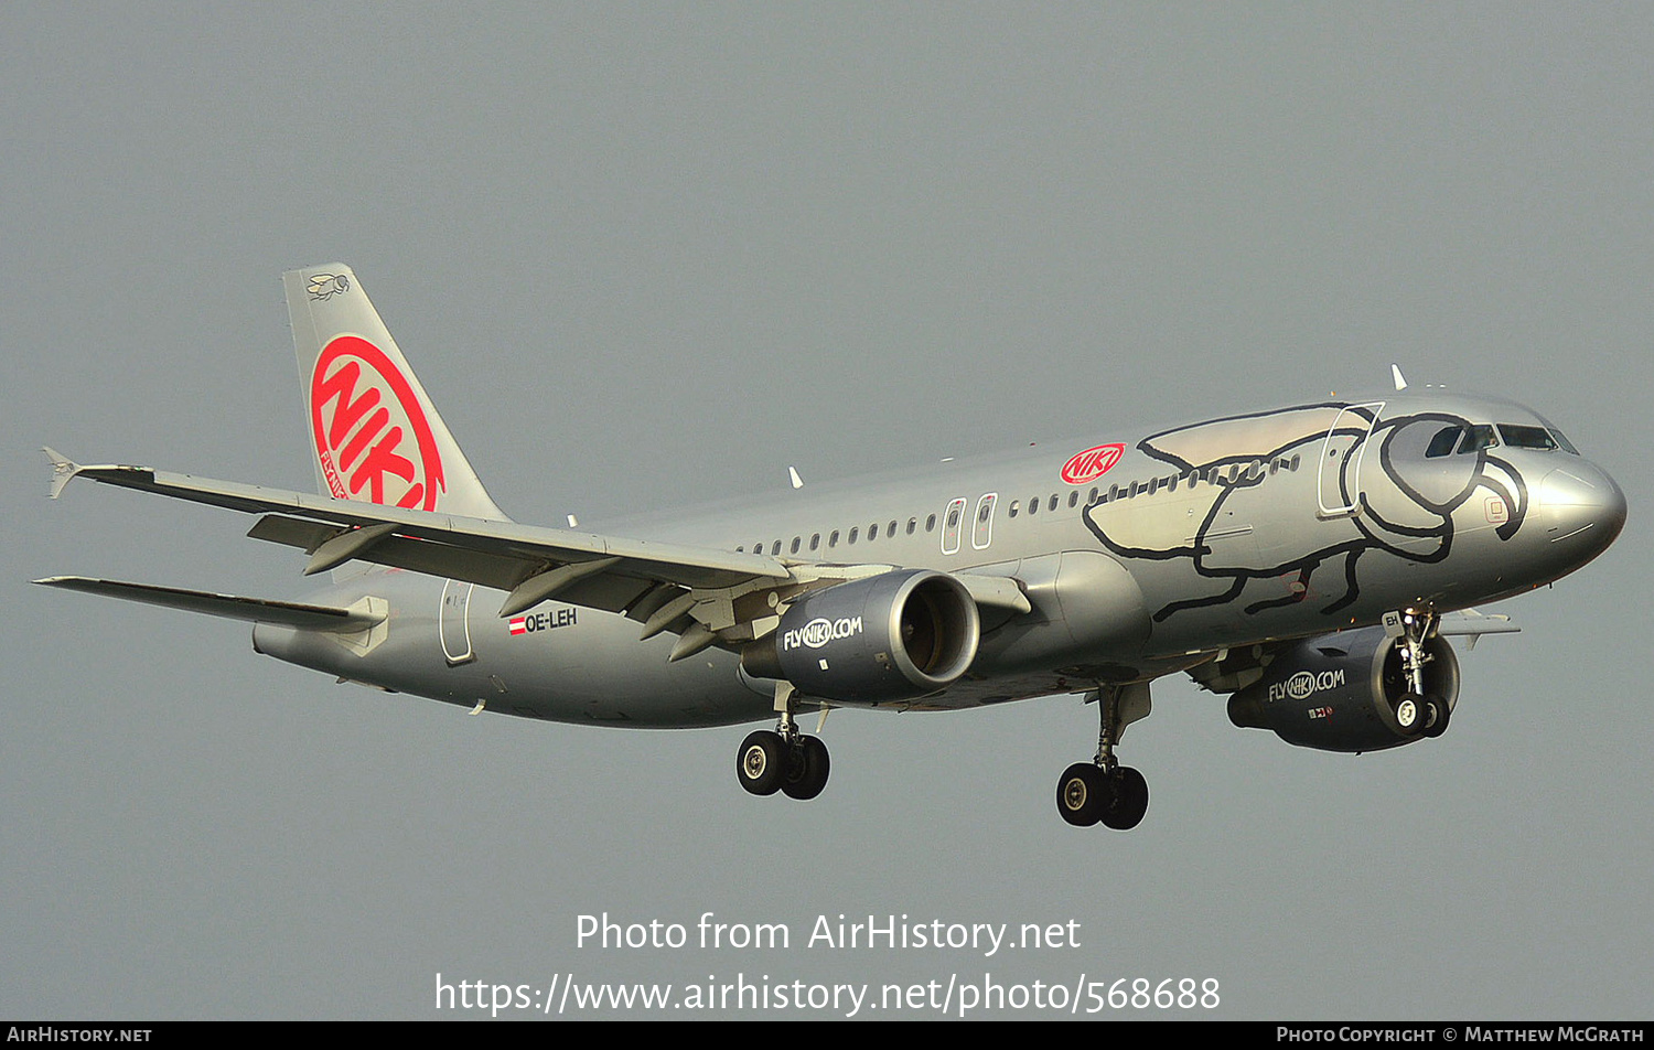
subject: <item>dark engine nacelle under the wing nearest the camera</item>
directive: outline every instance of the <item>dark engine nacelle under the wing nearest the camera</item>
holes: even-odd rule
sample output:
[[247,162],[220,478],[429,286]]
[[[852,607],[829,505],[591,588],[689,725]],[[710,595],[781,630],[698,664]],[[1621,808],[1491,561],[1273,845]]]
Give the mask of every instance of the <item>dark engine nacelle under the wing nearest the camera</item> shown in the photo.
[[741,655],[741,666],[786,678],[807,696],[885,703],[948,688],[976,660],[979,638],[964,584],[901,569],[796,599],[776,633]]

